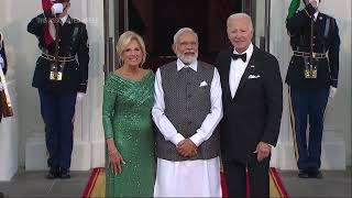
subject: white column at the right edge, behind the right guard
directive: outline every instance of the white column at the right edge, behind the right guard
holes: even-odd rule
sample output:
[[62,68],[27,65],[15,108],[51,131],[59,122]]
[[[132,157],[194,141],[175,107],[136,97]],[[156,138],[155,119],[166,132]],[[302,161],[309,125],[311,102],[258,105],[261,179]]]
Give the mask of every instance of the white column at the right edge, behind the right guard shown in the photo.
[[322,12],[337,19],[341,38],[338,94],[329,101],[326,113],[322,157],[329,160],[327,168],[334,166],[336,161],[343,156],[351,165],[351,8],[350,0],[321,1],[320,7]]

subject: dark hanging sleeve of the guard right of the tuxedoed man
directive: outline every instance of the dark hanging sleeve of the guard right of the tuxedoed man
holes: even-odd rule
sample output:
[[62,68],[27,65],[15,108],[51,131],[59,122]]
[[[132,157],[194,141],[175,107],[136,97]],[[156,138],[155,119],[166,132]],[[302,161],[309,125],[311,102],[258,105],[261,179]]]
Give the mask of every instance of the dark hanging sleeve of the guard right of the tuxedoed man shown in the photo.
[[339,28],[337,21],[332,19],[331,25],[331,40],[329,43],[329,67],[330,67],[330,78],[331,86],[338,87],[338,78],[339,78],[339,53],[340,53],[340,36],[339,36]]

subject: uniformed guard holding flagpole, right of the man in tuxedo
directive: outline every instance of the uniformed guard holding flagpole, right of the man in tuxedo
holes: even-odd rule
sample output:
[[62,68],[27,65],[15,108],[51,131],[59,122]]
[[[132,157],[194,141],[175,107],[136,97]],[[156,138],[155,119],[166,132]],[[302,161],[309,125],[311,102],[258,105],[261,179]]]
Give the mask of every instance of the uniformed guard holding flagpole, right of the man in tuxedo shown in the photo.
[[339,29],[334,18],[318,11],[319,3],[320,0],[305,0],[305,8],[296,12],[299,0],[293,0],[286,20],[294,51],[286,82],[289,86],[298,176],[301,178],[322,177],[319,169],[323,114],[328,98],[333,98],[337,92],[339,77]]

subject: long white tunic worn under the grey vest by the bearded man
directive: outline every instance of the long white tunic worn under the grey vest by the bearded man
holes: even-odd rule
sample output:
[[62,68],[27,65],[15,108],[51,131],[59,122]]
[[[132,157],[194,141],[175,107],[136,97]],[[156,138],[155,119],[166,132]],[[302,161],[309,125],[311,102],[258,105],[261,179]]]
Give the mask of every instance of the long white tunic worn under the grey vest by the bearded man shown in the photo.
[[[198,62],[185,66],[177,59],[177,70],[190,67],[197,72]],[[152,109],[153,120],[166,141],[175,146],[185,138],[165,116],[164,91],[160,69],[155,75],[155,103]],[[206,85],[209,86],[209,85]],[[190,140],[199,146],[207,141],[222,118],[221,85],[217,69],[210,84],[210,113],[204,120]],[[157,158],[154,197],[221,197],[220,158],[173,162]]]

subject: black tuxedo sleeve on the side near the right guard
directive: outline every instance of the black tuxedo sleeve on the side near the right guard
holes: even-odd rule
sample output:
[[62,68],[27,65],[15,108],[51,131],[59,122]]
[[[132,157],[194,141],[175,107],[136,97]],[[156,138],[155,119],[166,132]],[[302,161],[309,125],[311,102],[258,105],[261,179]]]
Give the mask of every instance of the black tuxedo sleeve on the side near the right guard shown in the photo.
[[283,112],[283,81],[278,62],[270,56],[264,64],[264,102],[266,106],[266,120],[262,142],[276,145],[282,112]]

